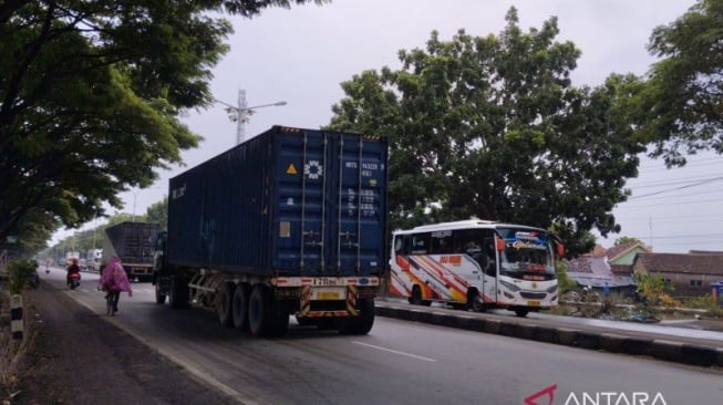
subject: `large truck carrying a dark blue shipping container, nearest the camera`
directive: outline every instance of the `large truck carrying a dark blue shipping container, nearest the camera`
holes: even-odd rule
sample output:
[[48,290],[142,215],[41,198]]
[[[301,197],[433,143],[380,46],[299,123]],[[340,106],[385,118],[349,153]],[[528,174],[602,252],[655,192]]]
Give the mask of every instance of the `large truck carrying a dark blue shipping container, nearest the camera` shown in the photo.
[[386,263],[385,138],[273,126],[169,180],[156,302],[255,336],[366,334]]

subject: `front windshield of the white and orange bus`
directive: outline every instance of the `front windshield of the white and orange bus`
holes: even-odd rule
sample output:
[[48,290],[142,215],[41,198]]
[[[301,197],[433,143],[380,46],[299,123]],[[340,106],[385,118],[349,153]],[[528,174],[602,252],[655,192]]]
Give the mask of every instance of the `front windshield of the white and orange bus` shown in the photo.
[[556,278],[552,239],[549,233],[524,228],[498,228],[505,241],[499,272],[523,280]]

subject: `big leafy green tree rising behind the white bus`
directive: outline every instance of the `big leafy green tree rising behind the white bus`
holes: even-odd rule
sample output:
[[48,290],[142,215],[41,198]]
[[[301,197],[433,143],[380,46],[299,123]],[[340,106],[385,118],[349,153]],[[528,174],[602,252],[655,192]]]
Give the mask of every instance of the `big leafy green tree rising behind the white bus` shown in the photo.
[[390,136],[392,229],[477,216],[555,225],[570,255],[588,251],[593,227],[619,231],[611,210],[637,176],[621,101],[637,82],[574,87],[580,51],[555,41],[557,19],[527,33],[515,8],[506,20],[497,37],[433,32],[400,70],[354,75],[329,127]]

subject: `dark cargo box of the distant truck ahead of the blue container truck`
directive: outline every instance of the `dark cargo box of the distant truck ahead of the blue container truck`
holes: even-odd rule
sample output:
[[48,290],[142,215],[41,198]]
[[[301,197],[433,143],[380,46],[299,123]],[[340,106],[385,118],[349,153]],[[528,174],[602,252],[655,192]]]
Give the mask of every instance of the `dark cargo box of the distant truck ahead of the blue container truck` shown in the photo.
[[158,224],[121,222],[105,229],[113,251],[124,263],[153,263]]

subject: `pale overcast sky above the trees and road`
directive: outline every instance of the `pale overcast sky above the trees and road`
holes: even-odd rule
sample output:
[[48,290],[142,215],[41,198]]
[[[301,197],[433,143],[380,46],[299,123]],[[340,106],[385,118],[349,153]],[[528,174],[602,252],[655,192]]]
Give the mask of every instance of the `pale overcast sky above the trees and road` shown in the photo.
[[[258,108],[245,125],[247,137],[272,125],[318,128],[329,123],[331,105],[343,96],[341,82],[369,69],[397,69],[397,51],[423,48],[432,30],[437,30],[442,40],[450,40],[462,28],[472,35],[498,34],[512,6],[517,8],[525,31],[557,15],[558,41],[572,41],[582,51],[572,72],[574,84],[595,86],[612,72],[645,73],[654,62],[645,50],[652,29],[674,21],[693,3],[333,0],[323,7],[270,9],[251,20],[233,18],[231,50],[214,70],[211,89],[217,100],[231,105],[237,104],[241,89],[249,107],[288,103]],[[205,137],[198,149],[183,154],[188,167],[236,144],[237,125],[223,105],[194,112],[184,122]],[[124,210],[144,214],[167,194],[167,179],[183,170],[164,172],[152,188],[123,194]],[[699,156],[688,168],[674,170],[667,170],[662,162],[643,162],[640,173],[629,181],[633,198],[613,211],[622,232],[600,239],[601,245],[609,247],[614,238],[630,236],[659,252],[723,250],[723,179],[713,180],[723,176],[723,157]],[[700,181],[703,184],[695,186]]]

